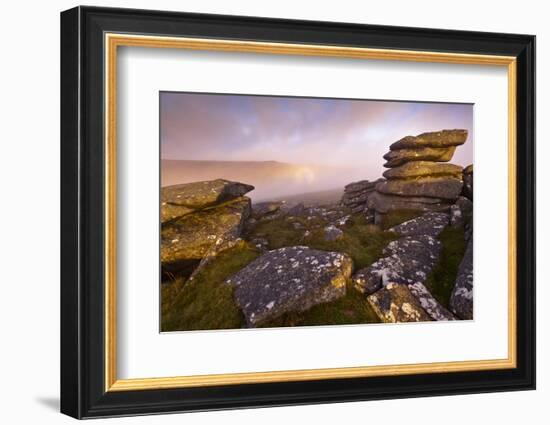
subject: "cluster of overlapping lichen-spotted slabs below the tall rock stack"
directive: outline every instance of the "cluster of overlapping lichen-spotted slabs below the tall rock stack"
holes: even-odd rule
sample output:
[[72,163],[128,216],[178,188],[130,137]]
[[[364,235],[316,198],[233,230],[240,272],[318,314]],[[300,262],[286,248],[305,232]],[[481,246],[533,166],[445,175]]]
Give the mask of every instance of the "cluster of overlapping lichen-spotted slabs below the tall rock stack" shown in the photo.
[[[441,252],[437,237],[448,224],[447,214],[426,213],[391,228],[402,237],[384,248],[382,258],[353,275],[355,288],[368,296],[381,320],[455,319],[424,286]],[[395,288],[388,290],[390,285]]]

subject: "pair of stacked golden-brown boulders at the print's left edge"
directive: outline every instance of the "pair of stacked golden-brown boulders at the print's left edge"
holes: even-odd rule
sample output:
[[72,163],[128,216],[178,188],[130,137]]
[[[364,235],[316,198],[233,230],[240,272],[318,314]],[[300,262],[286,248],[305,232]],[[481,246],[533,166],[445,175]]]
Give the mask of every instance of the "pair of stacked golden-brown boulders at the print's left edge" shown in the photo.
[[226,249],[241,236],[250,215],[253,186],[211,180],[161,190],[163,275],[174,275]]

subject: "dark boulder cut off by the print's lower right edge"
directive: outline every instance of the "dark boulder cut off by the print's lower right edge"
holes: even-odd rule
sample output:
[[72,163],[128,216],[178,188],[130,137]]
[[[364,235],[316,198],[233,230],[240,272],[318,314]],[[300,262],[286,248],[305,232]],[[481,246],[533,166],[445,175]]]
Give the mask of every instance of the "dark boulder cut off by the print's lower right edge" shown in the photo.
[[473,249],[473,240],[470,239],[464,258],[458,267],[449,302],[451,311],[464,320],[472,320],[474,315]]

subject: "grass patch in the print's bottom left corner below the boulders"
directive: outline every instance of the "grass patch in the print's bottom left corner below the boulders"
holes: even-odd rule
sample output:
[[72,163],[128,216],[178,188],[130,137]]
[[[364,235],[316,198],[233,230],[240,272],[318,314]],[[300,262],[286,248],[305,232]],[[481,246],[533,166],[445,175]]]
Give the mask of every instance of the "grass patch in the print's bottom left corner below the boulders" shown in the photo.
[[258,256],[243,241],[220,253],[193,280],[163,284],[162,331],[240,328],[242,313],[233,301],[233,288],[224,281]]

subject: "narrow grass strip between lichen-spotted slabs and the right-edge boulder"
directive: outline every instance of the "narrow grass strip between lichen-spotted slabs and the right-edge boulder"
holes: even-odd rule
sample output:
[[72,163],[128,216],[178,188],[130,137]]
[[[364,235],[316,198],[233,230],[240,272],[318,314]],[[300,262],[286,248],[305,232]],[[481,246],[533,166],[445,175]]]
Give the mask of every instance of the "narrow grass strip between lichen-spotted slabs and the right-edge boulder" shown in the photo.
[[449,308],[449,299],[455,284],[458,266],[466,251],[464,229],[446,227],[439,235],[439,240],[442,244],[441,255],[438,263],[428,275],[426,287],[443,307]]

